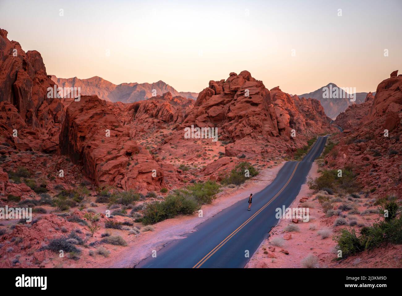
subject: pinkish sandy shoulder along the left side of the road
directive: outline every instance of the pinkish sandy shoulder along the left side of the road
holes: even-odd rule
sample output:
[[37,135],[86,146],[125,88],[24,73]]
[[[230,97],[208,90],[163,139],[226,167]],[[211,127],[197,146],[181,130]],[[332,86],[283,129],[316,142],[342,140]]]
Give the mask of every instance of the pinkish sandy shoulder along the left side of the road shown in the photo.
[[119,253],[109,257],[102,265],[103,267],[133,267],[139,261],[152,255],[153,250],[160,250],[164,245],[174,239],[185,238],[183,234],[195,231],[195,227],[205,220],[213,217],[225,208],[232,206],[234,203],[246,199],[249,193],[257,193],[271,184],[277,176],[285,162],[278,164],[271,169],[263,169],[255,178],[247,181],[243,185],[236,188],[224,188],[219,193],[217,199],[211,204],[202,207],[203,217],[178,216],[154,224],[154,231],[143,232],[138,235],[135,240],[129,243],[128,247],[121,249]]

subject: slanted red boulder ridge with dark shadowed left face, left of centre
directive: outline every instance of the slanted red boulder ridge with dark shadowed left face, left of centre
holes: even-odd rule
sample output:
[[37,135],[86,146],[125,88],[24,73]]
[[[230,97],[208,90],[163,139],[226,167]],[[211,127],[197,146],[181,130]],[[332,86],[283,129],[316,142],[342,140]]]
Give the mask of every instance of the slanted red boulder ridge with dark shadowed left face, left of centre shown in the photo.
[[[129,136],[106,101],[96,96],[82,96],[70,104],[59,140],[59,152],[81,164],[84,174],[98,185],[140,192],[159,190],[163,185],[159,164]],[[153,170],[156,177],[152,177]]]

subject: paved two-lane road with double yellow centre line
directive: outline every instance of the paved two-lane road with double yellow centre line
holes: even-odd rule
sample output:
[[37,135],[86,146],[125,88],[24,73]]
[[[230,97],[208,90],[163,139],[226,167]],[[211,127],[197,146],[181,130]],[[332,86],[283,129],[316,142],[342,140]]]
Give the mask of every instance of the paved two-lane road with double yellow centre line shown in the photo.
[[[199,268],[244,267],[261,241],[278,220],[275,209],[290,206],[301,185],[324,149],[326,137],[318,137],[302,161],[284,164],[275,180],[260,192],[253,193],[251,211],[247,211],[248,195],[199,224],[195,232],[173,240],[135,268]],[[246,253],[249,257],[246,257]]]

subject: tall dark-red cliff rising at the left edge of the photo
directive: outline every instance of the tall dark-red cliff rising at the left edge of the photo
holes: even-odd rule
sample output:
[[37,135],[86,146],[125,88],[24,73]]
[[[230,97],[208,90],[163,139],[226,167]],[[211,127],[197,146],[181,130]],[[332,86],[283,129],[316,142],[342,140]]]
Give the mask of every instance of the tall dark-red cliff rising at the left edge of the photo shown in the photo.
[[[59,99],[48,98],[47,77],[41,54],[23,51],[0,29],[0,129],[7,140],[21,150],[57,149],[58,131],[64,120]],[[17,129],[18,137],[13,137]]]

